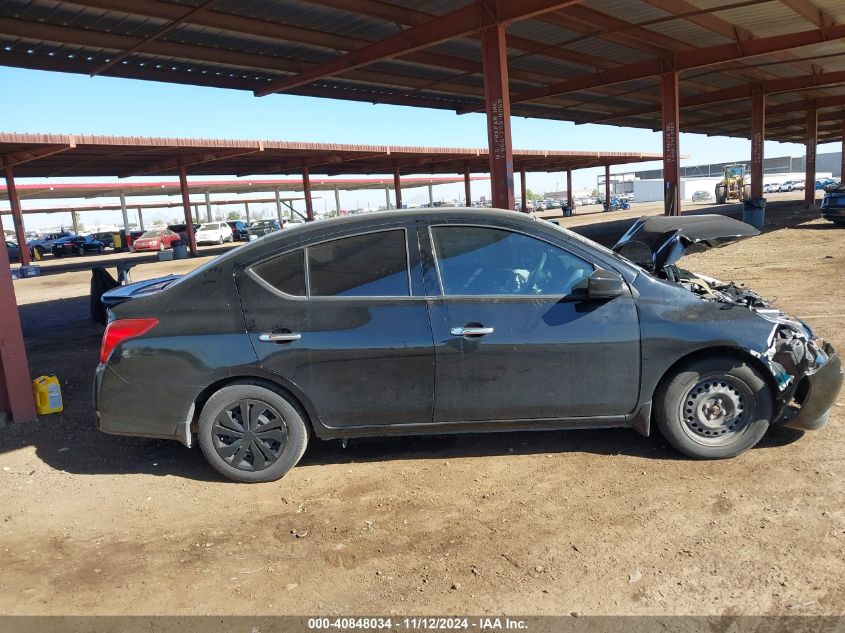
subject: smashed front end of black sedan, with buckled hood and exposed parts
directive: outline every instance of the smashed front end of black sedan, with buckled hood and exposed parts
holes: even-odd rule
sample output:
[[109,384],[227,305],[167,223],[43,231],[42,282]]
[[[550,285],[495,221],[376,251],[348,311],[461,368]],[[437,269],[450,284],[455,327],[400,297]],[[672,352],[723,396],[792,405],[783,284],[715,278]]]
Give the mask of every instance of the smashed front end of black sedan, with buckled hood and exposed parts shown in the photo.
[[637,220],[613,250],[703,301],[742,306],[770,322],[767,348],[746,351],[768,369],[777,388],[773,422],[802,430],[819,429],[827,423],[843,383],[841,361],[830,343],[757,293],[676,266],[687,253],[758,234],[754,227],[725,216],[658,216]]

